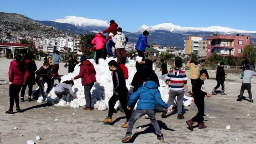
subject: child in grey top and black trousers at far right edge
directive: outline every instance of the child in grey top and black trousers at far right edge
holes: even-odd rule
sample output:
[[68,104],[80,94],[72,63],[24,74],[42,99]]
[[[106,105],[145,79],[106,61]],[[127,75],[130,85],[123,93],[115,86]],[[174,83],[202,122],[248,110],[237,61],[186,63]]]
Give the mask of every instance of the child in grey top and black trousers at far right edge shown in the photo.
[[249,65],[246,65],[245,68],[246,68],[246,70],[243,72],[244,76],[243,76],[243,79],[242,79],[242,86],[241,86],[241,89],[240,89],[240,95],[238,96],[238,99],[236,101],[242,101],[244,90],[247,90],[247,92],[249,94],[250,102],[253,102],[252,92],[251,92],[251,88],[252,88],[251,78],[252,78],[252,75],[256,76],[256,73],[254,71],[250,70]]

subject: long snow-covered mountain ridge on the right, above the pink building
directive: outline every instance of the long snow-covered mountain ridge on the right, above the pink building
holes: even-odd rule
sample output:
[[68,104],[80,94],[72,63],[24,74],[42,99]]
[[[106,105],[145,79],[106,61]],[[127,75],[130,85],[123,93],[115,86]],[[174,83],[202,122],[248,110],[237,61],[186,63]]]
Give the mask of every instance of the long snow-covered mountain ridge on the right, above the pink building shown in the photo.
[[146,26],[143,25],[140,27],[140,29],[137,32],[143,32],[144,30],[148,31],[156,31],[156,30],[165,30],[170,31],[173,33],[180,33],[180,32],[200,32],[200,31],[207,31],[207,32],[222,32],[225,34],[230,34],[234,32],[238,33],[256,33],[256,31],[246,31],[246,30],[236,30],[236,29],[230,29],[229,27],[222,27],[222,26],[210,26],[210,27],[181,27],[176,26],[172,23],[162,23],[155,26]]

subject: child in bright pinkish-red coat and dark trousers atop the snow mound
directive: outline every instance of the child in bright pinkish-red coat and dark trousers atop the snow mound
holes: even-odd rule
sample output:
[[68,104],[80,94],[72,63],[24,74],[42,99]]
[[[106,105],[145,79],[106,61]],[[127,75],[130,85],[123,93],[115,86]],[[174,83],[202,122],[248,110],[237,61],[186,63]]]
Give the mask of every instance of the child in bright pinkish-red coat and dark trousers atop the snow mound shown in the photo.
[[102,52],[104,49],[105,44],[107,43],[107,40],[103,38],[101,33],[98,33],[95,35],[95,38],[91,41],[92,45],[96,44],[96,65],[99,64],[99,58],[102,57]]

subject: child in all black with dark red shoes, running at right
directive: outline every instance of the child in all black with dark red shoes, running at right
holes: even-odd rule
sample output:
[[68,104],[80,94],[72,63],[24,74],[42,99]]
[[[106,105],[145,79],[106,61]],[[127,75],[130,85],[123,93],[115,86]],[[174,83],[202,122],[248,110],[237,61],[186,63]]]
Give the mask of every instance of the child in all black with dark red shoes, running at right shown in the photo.
[[195,102],[198,109],[198,113],[195,117],[188,120],[186,123],[190,130],[193,131],[194,122],[199,123],[199,129],[206,128],[204,125],[204,97],[211,97],[209,93],[205,92],[204,80],[209,79],[209,75],[206,69],[200,71],[200,77],[196,80],[195,89],[193,91],[192,102]]

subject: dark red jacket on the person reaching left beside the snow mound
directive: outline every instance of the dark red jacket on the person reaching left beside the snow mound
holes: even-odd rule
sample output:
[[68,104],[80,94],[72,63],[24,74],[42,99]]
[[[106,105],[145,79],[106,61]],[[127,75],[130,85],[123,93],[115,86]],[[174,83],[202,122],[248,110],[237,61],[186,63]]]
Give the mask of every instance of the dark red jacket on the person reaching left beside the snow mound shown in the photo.
[[96,71],[89,60],[84,60],[80,65],[79,75],[74,79],[82,78],[82,86],[96,82]]

